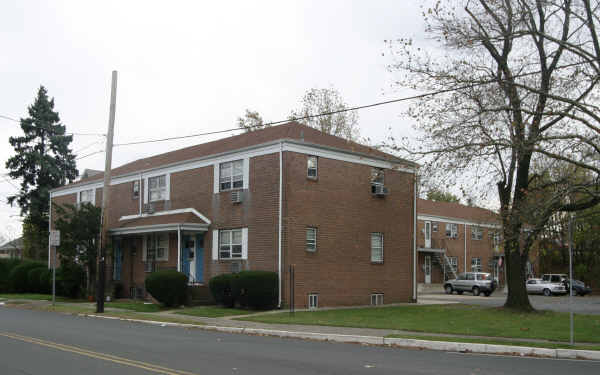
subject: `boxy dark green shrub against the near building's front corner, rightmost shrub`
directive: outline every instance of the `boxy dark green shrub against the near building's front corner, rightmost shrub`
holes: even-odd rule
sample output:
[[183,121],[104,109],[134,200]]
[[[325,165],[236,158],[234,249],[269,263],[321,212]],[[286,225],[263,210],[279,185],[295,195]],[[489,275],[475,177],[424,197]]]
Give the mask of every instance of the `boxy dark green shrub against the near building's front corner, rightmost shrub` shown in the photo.
[[270,271],[242,271],[232,283],[232,294],[242,307],[266,310],[277,305],[277,273]]

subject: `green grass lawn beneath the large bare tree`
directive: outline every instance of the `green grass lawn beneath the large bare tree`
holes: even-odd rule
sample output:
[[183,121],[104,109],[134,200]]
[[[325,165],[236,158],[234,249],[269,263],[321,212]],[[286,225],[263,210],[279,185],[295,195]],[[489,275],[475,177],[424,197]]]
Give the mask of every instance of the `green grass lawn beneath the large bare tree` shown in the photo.
[[[522,339],[569,340],[569,314],[517,313],[472,305],[391,306],[238,318],[262,323],[397,329]],[[575,341],[600,343],[600,315],[575,314]]]

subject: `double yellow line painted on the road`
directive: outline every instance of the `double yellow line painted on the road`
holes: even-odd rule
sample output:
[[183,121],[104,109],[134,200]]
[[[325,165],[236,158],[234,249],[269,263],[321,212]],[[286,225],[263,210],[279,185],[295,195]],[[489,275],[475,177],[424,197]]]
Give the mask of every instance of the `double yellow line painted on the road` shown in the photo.
[[94,352],[94,351],[79,348],[76,346],[59,344],[56,342],[46,341],[46,340],[38,339],[35,337],[22,336],[22,335],[19,335],[16,333],[0,332],[0,336],[7,337],[7,338],[10,338],[13,340],[27,342],[30,344],[46,346],[49,348],[53,348],[53,349],[57,349],[57,350],[65,351],[65,352],[75,353],[75,354],[79,354],[79,355],[83,355],[83,356],[87,356],[87,357],[91,357],[91,358],[96,358],[96,359],[100,359],[103,361],[118,363],[118,364],[125,365],[125,366],[137,367],[137,368],[141,368],[144,370],[148,370],[148,371],[152,371],[152,372],[164,374],[164,375],[197,375],[192,372],[187,372],[187,371],[182,371],[182,370],[174,370],[174,369],[171,369],[168,367],[163,367],[163,366],[155,365],[152,363],[136,361],[133,359],[118,357],[118,356],[111,355],[111,354]]

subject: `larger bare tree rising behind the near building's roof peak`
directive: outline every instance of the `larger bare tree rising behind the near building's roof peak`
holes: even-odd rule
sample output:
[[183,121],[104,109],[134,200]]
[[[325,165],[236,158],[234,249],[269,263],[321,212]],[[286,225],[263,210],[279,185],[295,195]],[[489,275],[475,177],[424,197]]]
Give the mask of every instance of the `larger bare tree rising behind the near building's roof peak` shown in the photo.
[[346,111],[347,109],[348,106],[336,89],[310,89],[302,97],[302,107],[293,110],[290,119],[296,119],[323,133],[356,141],[359,137],[358,114]]

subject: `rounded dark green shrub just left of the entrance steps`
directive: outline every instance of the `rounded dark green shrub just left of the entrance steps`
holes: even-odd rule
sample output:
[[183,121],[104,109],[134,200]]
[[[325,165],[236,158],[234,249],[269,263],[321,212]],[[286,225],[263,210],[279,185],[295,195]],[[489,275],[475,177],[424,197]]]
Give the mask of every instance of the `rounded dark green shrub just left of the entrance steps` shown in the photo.
[[153,272],[146,278],[146,291],[167,307],[181,306],[187,299],[187,275],[175,270]]

